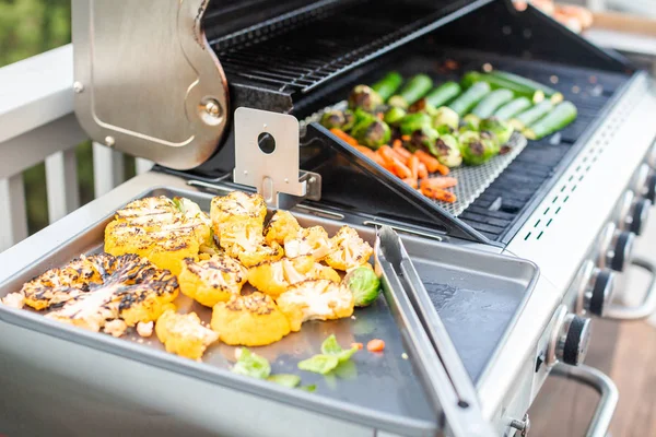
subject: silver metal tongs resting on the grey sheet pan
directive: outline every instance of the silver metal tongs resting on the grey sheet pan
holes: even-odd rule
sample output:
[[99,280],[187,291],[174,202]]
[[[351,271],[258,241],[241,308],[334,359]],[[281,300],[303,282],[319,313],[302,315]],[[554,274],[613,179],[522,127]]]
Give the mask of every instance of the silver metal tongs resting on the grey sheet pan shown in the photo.
[[476,389],[444,323],[401,243],[389,227],[377,231],[376,272],[401,330],[409,358],[438,412],[444,434],[454,437],[492,437]]

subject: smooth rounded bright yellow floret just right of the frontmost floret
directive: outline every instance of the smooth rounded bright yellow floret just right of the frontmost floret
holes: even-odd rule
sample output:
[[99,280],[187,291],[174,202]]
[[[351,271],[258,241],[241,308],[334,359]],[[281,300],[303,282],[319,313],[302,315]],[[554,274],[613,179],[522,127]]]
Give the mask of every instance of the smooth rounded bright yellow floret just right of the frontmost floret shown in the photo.
[[290,333],[290,322],[273,299],[259,292],[216,304],[211,327],[233,346],[265,346]]

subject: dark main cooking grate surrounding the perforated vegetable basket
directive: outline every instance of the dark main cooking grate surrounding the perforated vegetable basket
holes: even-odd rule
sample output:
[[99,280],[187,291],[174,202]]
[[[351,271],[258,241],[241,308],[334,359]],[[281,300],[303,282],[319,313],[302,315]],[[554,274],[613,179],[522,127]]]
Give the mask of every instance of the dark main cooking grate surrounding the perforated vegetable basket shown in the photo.
[[[529,141],[515,161],[459,215],[459,218],[488,238],[503,243],[514,236],[514,226],[523,224],[520,217],[524,213],[530,212],[531,201],[538,199],[549,188],[549,180],[552,180],[560,168],[567,165],[577,149],[576,141],[587,128],[600,119],[607,104],[630,78],[621,73],[500,57],[485,52],[453,51],[435,47],[430,40],[418,42],[406,51],[413,55],[401,54],[385,62],[367,66],[354,73],[354,75],[360,73],[359,79],[349,81],[339,90],[330,90],[320,97],[307,99],[312,101],[311,103],[307,101],[300,103],[296,105],[298,117],[303,118],[333,105],[343,99],[355,83],[373,83],[389,70],[398,70],[405,78],[425,72],[432,75],[436,83],[441,83],[447,80],[457,81],[467,71],[480,70],[484,63],[549,84],[562,92],[565,99],[571,101],[578,108],[577,119],[567,128],[540,141]],[[456,60],[457,67],[445,69],[445,64],[453,64],[447,62],[448,60]],[[361,187],[367,191],[366,188]],[[370,190],[374,189],[374,187],[370,188]],[[350,193],[347,188],[341,191],[340,197],[343,199],[328,196],[323,201],[335,202],[340,208],[352,204],[364,209],[376,208],[365,199],[349,199],[355,194]],[[417,216],[398,216],[389,208],[366,212],[389,218],[397,216],[406,222],[411,222],[413,218],[417,221]]]

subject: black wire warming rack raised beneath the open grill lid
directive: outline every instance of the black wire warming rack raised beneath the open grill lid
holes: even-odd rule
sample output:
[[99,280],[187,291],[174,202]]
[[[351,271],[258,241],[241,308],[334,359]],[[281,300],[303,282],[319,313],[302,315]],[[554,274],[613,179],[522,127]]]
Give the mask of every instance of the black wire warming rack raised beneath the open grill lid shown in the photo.
[[254,33],[236,47],[225,48],[220,42],[212,47],[232,82],[245,80],[278,92],[308,93],[433,31],[453,12],[467,12],[468,3],[472,0],[365,1],[268,37]]

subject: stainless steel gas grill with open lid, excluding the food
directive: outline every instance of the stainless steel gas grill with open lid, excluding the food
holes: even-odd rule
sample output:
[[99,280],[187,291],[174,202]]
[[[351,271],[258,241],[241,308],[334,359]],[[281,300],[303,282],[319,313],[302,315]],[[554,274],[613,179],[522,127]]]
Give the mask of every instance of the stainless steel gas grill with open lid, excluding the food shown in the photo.
[[[362,317],[394,340],[384,370],[367,362],[360,380],[337,388],[317,379],[309,397],[235,379],[220,352],[187,363],[0,306],[0,349],[21,364],[3,375],[8,381],[44,378],[33,375],[34,363],[48,362],[67,387],[138,405],[157,435],[175,430],[157,427],[152,414],[208,435],[271,436],[488,435],[473,429],[477,421],[460,427],[467,421],[445,401],[472,386],[478,399],[456,412],[470,406],[494,434],[524,436],[526,412],[553,375],[602,394],[588,435],[605,435],[617,390],[583,364],[589,318],[636,319],[656,308],[654,285],[636,308],[612,303],[616,276],[629,263],[656,272],[631,257],[656,196],[656,86],[645,72],[504,0],[73,0],[73,45],[82,127],[157,165],[0,253],[0,295],[81,251],[102,250],[105,224],[132,199],[184,194],[207,208],[214,194],[258,189],[303,223],[349,224],[372,243],[391,229],[402,236],[389,246],[396,252],[377,248],[386,302]],[[516,139],[518,153],[480,180],[465,180],[471,189],[462,209],[423,198],[316,122],[353,85],[390,69],[442,82],[484,64],[550,84],[577,106],[578,118],[543,140]],[[277,152],[266,157],[257,144],[270,137]],[[284,182],[272,176],[278,172]],[[399,267],[406,259],[410,273]],[[355,335],[356,326],[333,327]],[[308,330],[293,352],[269,350],[280,358],[276,366],[289,371],[285,357],[309,353],[320,332]],[[449,341],[465,381],[453,376],[459,367],[447,359]],[[27,402],[35,411],[54,408]]]

